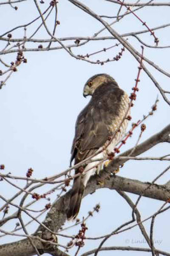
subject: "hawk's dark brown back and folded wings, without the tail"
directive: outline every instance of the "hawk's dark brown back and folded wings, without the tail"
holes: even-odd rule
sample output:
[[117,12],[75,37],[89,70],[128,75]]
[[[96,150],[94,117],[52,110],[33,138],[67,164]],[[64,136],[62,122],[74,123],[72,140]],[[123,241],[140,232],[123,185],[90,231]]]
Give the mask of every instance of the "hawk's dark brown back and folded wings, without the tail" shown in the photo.
[[71,161],[79,163],[98,148],[102,147],[112,134],[109,125],[118,115],[120,97],[124,92],[120,88],[111,88],[102,95],[92,97],[81,111],[76,121],[76,132],[71,149]]

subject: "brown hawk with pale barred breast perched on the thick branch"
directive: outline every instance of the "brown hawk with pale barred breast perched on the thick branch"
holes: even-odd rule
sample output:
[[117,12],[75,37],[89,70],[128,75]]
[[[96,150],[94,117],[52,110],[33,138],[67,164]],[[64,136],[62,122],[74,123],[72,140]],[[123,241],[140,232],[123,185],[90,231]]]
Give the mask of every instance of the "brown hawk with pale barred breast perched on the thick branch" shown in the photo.
[[[108,143],[120,126],[129,107],[127,93],[120,89],[115,79],[108,74],[97,74],[90,77],[83,89],[83,96],[87,97],[88,95],[92,96],[90,102],[80,112],[76,120],[76,131],[71,148],[71,163],[74,159],[74,164],[80,163],[104,148],[104,145]],[[94,156],[93,160],[107,157],[110,152],[113,152],[115,145],[124,136],[127,124],[128,120],[125,118],[110,145],[103,152]],[[83,166],[83,173],[74,178],[67,209],[68,220],[76,218],[88,180],[102,167],[103,164],[100,164],[99,161],[93,161]],[[75,170],[75,174],[77,173],[80,173],[80,168]]]

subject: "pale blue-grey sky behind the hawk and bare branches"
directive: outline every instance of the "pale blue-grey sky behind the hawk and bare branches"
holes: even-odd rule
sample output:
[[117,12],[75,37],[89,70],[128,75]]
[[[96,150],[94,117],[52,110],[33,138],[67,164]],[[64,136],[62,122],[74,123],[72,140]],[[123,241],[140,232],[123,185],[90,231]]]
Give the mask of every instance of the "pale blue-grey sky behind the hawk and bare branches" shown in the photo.
[[[45,1],[46,3],[48,1]],[[106,1],[87,0],[83,1],[97,13],[105,15],[117,14],[117,6]],[[130,1],[132,3],[132,1]],[[45,7],[47,4],[45,5]],[[6,4],[0,8],[1,33],[17,26],[29,22],[38,15],[33,1],[26,1],[18,4],[16,12]],[[45,8],[44,7],[44,8]],[[125,11],[125,9],[124,9]],[[169,22],[169,8],[146,8],[146,11],[138,11],[138,15],[146,20],[150,28],[166,24]],[[66,0],[60,0],[58,4],[58,20],[60,26],[57,27],[57,37],[61,36],[92,36],[96,31],[102,28],[101,24],[92,17],[78,10],[73,4]],[[52,31],[53,15],[47,22]],[[35,28],[35,27],[34,27]],[[129,31],[138,31],[143,26],[136,22],[132,15],[128,15],[124,22],[117,23],[113,26],[118,33],[127,33]],[[32,28],[32,31],[34,29]],[[169,28],[163,31],[155,32],[160,40],[160,45],[169,44]],[[13,37],[22,37],[24,31],[20,30],[13,33]],[[30,35],[31,31],[28,29]],[[109,35],[106,31],[101,35]],[[36,38],[48,38],[45,29],[41,30]],[[143,40],[153,45],[152,36],[144,35]],[[129,38],[129,42],[141,51],[140,44]],[[1,45],[4,43],[0,43]],[[93,42],[83,48],[74,49],[76,54],[87,54],[99,51],[103,47],[114,45],[115,41],[110,42]],[[33,45],[32,45],[33,47]],[[2,48],[2,46],[1,46]],[[120,47],[115,47],[106,53],[94,56],[92,60],[105,60],[113,58],[120,51]],[[0,136],[0,164],[5,164],[6,172],[13,175],[24,176],[28,168],[34,169],[33,177],[38,179],[54,175],[69,166],[71,144],[74,136],[74,124],[76,117],[81,109],[89,102],[90,98],[83,98],[83,86],[90,76],[98,73],[107,73],[113,76],[119,86],[127,93],[131,92],[134,86],[134,79],[138,73],[138,63],[132,58],[129,52],[125,51],[121,60],[107,63],[106,65],[92,65],[85,61],[75,60],[67,54],[66,51],[49,51],[49,52],[26,52],[27,64],[18,67],[10,77],[6,86],[0,92],[0,113],[1,113],[1,136]],[[145,56],[154,61],[155,64],[170,71],[169,68],[169,49],[148,49],[145,47]],[[3,60],[15,60],[16,54],[2,56]],[[148,65],[146,65],[148,67]],[[0,69],[1,69],[0,63]],[[169,86],[168,77],[163,76],[155,69],[150,68],[153,76],[156,77],[160,85],[165,89]],[[139,83],[138,99],[135,107],[132,109],[132,121],[136,122],[143,115],[150,111],[150,108],[159,95],[159,107],[157,112],[146,120],[146,131],[141,141],[146,140],[155,132],[159,132],[163,127],[169,124],[169,106],[160,95],[152,81],[142,72]],[[139,130],[134,132],[134,136],[128,141],[122,152],[135,145],[138,138]],[[158,145],[149,150],[144,156],[163,156],[169,153],[170,147],[167,144]],[[129,161],[124,168],[120,170],[119,175],[138,179],[141,181],[152,181],[159,173],[166,168],[168,163],[160,162],[138,162]],[[164,184],[169,180],[169,173],[164,175],[157,183]],[[18,182],[20,186],[24,183]],[[10,198],[16,191],[14,188],[6,184],[1,185],[1,193]],[[57,195],[52,195],[54,199]],[[129,194],[130,195],[130,194]],[[137,196],[130,195],[132,200],[136,200]],[[93,195],[86,196],[81,204],[81,210],[78,217],[82,218],[88,211],[92,210],[94,205],[101,204],[99,214],[87,221],[89,230],[87,236],[100,236],[108,234],[118,225],[124,223],[131,218],[131,210],[115,191],[108,189],[100,189]],[[0,204],[3,204],[0,201]],[[46,202],[43,202],[46,204]],[[38,205],[38,204],[37,204]],[[39,203],[41,205],[41,203]],[[141,219],[150,216],[159,209],[162,202],[142,198],[139,204],[141,211]],[[38,206],[37,206],[38,207]],[[11,209],[12,211],[12,209]],[[160,250],[169,251],[169,222],[167,222],[167,214],[165,212],[157,217],[154,230],[155,247]],[[25,220],[27,217],[25,216]],[[6,230],[15,227],[15,221],[11,221],[6,225]],[[28,228],[29,232],[34,227]],[[150,229],[150,221],[145,223],[146,230]],[[141,241],[139,228],[134,228],[128,232],[124,232],[118,236],[114,236],[107,241],[105,246],[144,246],[145,243],[137,244],[133,241]],[[78,230],[77,228],[75,230]],[[67,234],[76,234],[77,231],[69,230]],[[3,237],[1,243],[16,241],[16,237]],[[161,241],[156,242],[156,241]],[[62,240],[59,243],[62,243]],[[85,248],[81,249],[81,253],[86,252],[97,246],[98,241],[85,241]],[[80,253],[80,254],[81,254]],[[73,251],[70,252],[71,255]],[[106,255],[101,252],[100,255]],[[132,255],[132,252],[107,252],[107,255]],[[134,253],[137,255],[137,253]],[[143,255],[138,253],[138,255]]]

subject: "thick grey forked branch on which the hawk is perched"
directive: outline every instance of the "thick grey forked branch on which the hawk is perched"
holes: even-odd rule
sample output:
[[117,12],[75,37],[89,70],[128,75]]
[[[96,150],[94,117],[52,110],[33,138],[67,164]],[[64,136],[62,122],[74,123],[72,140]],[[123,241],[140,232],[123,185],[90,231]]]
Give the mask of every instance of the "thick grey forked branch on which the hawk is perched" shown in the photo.
[[[170,134],[170,125],[167,125],[167,127],[165,127],[162,131],[158,132],[157,134],[150,137],[148,140],[139,144],[131,156],[138,156],[139,154],[142,154],[146,150],[154,147],[158,143],[170,142],[169,134]],[[131,151],[132,151],[132,148],[127,150],[126,152],[124,152],[124,154],[120,156],[128,156],[131,153]],[[120,164],[123,164],[126,161],[128,160],[119,159],[119,158],[113,160],[108,165],[105,172],[101,173],[101,179],[106,179],[106,177],[108,177],[108,174],[111,171],[117,169],[117,167],[120,166]],[[110,179],[104,180],[103,186],[99,186],[99,184],[97,184],[96,182],[96,179],[97,179],[96,176],[90,179],[83,196],[92,194],[94,193],[94,191],[96,191],[96,189],[101,189],[101,188],[119,189],[129,193],[134,193],[136,195],[141,195],[143,191],[146,188],[148,188],[148,182],[140,182],[139,180],[127,179],[119,176],[112,176],[110,177]],[[70,196],[70,191],[68,191],[66,195],[61,196],[58,200],[56,200],[56,202],[53,204],[52,209],[46,215],[45,221],[43,221],[43,224],[46,227],[53,230],[53,232],[57,232],[59,228],[66,221],[66,211],[67,211],[67,205],[69,202],[69,196]],[[143,193],[143,196],[166,201],[168,198],[170,198],[170,189],[168,186],[152,184],[150,188],[145,190],[145,192]],[[45,228],[41,226],[38,228],[38,230],[36,230],[34,235],[43,237],[44,232],[45,232]],[[62,252],[56,251],[56,248],[54,250],[53,247],[51,249],[48,248],[47,250],[45,244],[40,243],[37,239],[35,239],[34,244],[38,248],[39,252],[55,253],[53,255],[66,256],[66,254],[64,255],[64,254],[61,254]],[[0,246],[0,256],[4,256],[4,255],[31,256],[31,255],[34,255],[34,252],[28,239],[24,239],[22,241],[11,243],[10,246],[9,244],[4,244]]]

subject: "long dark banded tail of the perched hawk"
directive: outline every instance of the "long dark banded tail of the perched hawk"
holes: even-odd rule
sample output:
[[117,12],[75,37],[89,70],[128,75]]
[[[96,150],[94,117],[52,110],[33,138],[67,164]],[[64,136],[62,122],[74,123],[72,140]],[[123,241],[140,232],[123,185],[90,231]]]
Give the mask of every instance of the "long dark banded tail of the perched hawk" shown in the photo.
[[74,179],[73,188],[69,200],[69,207],[67,210],[67,220],[75,219],[81,204],[81,198],[84,192],[84,185],[81,177]]

